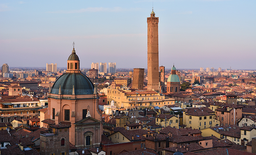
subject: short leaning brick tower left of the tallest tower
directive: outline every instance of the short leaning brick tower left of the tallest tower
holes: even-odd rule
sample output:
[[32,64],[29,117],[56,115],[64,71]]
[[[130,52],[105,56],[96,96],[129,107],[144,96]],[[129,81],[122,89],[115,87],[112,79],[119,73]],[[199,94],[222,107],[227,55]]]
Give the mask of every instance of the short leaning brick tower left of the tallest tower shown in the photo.
[[132,77],[132,88],[143,90],[144,68],[134,68]]

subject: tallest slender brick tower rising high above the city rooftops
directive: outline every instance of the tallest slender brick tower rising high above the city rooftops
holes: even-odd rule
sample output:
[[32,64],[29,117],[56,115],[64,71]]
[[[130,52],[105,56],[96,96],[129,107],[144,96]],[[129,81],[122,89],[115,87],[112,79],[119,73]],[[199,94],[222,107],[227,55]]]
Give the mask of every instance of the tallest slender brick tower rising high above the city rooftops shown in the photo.
[[148,90],[159,89],[158,17],[152,10],[148,23]]

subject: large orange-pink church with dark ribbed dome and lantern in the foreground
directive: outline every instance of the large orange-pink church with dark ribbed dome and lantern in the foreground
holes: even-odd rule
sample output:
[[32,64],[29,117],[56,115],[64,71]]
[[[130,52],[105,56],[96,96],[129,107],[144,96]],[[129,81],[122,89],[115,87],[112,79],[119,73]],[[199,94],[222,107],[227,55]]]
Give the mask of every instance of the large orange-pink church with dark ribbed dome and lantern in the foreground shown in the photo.
[[98,101],[96,87],[81,73],[80,60],[73,47],[66,73],[49,90],[48,108],[41,115],[41,127],[70,125],[69,142],[76,148],[100,147],[103,127]]

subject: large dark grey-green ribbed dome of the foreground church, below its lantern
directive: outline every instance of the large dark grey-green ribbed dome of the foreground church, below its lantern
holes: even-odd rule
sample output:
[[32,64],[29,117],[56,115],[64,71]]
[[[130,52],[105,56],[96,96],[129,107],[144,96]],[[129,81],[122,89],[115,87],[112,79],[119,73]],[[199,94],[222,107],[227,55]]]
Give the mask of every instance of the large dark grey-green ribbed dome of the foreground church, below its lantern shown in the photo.
[[73,87],[76,95],[93,94],[94,87],[91,80],[83,73],[64,73],[53,84],[51,93],[59,94],[59,88],[61,94],[72,95]]

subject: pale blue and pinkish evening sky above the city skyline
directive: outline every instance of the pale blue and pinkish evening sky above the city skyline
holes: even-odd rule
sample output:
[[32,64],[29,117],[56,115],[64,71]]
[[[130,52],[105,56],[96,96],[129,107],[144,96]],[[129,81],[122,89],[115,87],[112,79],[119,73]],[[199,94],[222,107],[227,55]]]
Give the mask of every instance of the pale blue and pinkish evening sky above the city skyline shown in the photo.
[[159,66],[256,69],[256,0],[1,0],[0,65],[147,68],[152,3]]

